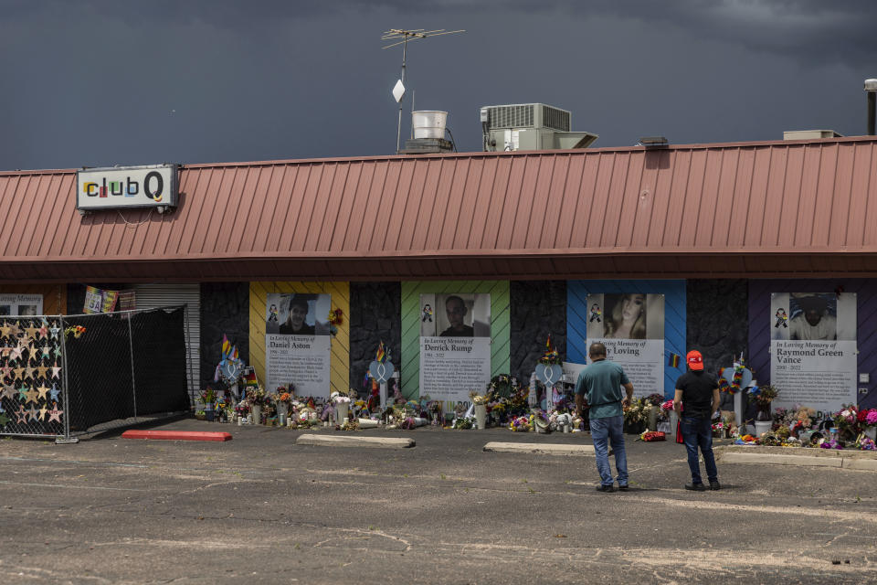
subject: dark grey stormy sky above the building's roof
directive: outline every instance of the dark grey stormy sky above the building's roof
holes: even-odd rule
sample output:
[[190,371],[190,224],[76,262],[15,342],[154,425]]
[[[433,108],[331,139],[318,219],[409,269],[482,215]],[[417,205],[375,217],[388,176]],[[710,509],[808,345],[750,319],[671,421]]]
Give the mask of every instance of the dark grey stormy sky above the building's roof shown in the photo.
[[[595,146],[865,132],[877,2],[0,0],[0,169],[392,154],[417,109],[481,149],[479,108],[539,101]],[[404,118],[403,135],[408,132]]]

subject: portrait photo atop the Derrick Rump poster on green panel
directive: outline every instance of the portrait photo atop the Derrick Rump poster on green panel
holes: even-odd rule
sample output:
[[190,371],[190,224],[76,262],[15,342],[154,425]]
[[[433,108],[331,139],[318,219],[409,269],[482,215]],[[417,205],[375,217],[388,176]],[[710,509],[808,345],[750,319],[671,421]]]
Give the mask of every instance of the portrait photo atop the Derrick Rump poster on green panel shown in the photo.
[[[433,301],[430,303],[430,300]],[[491,295],[487,293],[421,294],[421,336],[432,330],[439,337],[490,337]],[[432,309],[432,324],[423,321],[426,305]],[[428,326],[429,325],[429,326]]]

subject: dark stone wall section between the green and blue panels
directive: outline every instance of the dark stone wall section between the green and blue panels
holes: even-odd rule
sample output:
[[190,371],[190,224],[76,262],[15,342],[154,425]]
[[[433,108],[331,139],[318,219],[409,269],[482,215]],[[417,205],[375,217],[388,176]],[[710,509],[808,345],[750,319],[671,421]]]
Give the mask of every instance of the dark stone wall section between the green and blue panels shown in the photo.
[[566,359],[566,281],[512,281],[510,287],[510,373],[529,384],[549,334],[552,345]]

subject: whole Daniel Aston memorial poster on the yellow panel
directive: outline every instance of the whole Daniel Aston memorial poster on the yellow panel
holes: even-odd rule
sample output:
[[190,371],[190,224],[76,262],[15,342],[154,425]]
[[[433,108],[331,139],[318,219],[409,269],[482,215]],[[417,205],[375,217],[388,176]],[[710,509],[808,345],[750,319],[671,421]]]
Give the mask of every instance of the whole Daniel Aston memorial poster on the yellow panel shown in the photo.
[[292,383],[300,397],[329,398],[330,295],[270,293],[265,304],[265,389]]

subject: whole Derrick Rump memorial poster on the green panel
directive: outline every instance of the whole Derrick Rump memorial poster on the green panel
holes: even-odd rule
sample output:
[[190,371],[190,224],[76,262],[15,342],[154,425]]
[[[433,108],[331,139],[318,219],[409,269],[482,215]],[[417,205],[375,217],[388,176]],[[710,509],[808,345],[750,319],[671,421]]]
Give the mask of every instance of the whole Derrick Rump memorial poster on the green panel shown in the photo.
[[491,380],[491,295],[420,295],[420,396],[469,406]]

